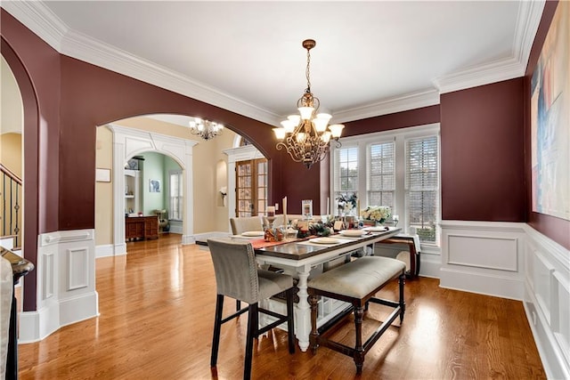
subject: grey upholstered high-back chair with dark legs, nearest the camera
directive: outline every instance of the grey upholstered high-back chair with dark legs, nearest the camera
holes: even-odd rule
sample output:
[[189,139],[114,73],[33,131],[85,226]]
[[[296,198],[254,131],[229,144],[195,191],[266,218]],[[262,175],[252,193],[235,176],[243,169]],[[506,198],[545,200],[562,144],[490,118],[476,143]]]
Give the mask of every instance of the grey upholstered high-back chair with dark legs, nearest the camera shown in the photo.
[[[253,357],[253,340],[258,336],[287,322],[289,336],[289,353],[295,352],[293,322],[293,278],[286,274],[264,271],[257,268],[253,247],[248,241],[232,241],[231,239],[208,239],[208,247],[216,273],[216,318],[214,337],[212,340],[211,367],[216,367],[217,353],[220,344],[222,324],[248,312],[248,333],[243,378],[251,377],[251,361]],[[273,295],[285,292],[287,299],[287,315],[269,311],[259,307],[259,302]],[[248,303],[239,311],[222,318],[224,296]],[[259,312],[272,316],[276,320],[265,327],[259,327]]]

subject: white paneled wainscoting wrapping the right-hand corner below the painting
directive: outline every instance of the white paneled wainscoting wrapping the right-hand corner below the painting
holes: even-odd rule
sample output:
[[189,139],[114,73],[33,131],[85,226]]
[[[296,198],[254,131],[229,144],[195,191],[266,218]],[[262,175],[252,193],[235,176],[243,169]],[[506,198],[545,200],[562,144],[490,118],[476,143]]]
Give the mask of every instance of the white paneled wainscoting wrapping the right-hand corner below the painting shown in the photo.
[[523,301],[547,376],[570,379],[570,251],[526,223],[441,226],[440,286]]

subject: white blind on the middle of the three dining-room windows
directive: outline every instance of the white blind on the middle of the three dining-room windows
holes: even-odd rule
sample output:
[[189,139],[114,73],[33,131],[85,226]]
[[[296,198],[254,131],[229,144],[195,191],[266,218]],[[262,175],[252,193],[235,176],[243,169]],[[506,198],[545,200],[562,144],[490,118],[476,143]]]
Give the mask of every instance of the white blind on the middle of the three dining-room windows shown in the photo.
[[394,209],[395,148],[394,141],[369,145],[368,204]]

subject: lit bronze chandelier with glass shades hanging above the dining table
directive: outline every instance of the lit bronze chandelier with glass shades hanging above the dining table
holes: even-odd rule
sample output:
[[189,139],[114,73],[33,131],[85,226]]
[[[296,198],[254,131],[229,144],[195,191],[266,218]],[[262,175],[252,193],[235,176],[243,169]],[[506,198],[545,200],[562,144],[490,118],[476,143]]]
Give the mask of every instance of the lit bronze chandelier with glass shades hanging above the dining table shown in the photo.
[[281,121],[281,127],[273,128],[277,140],[280,141],[276,145],[277,150],[286,149],[293,161],[302,162],[307,168],[327,156],[331,138],[337,142],[337,147],[340,147],[338,138],[345,127],[342,124],[329,125],[331,116],[318,113],[321,102],[311,93],[309,70],[310,50],[315,44],[313,39],[303,41],[303,47],[306,49],[306,89],[297,101],[300,115],[291,115],[287,120]]

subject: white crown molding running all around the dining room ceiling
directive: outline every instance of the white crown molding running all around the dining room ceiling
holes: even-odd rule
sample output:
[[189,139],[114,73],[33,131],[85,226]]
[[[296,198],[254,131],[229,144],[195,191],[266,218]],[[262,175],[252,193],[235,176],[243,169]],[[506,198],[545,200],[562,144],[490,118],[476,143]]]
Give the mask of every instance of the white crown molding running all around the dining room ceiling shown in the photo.
[[[351,109],[340,109],[334,112],[335,119],[342,123],[427,107],[439,104],[439,93],[450,93],[524,76],[544,4],[544,0],[519,3],[515,42],[510,57],[436,77],[432,81],[436,89],[404,94]],[[279,125],[280,116],[268,109],[262,109],[190,77],[126,53],[110,44],[104,44],[70,30],[42,1],[4,1],[2,7],[59,53],[269,125]]]

